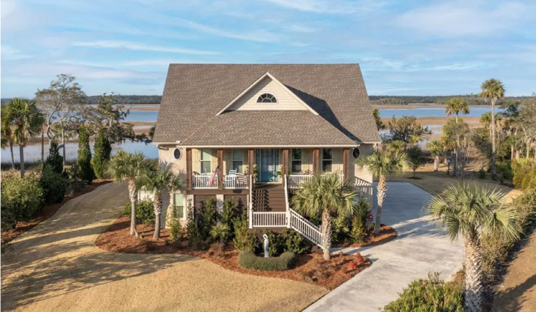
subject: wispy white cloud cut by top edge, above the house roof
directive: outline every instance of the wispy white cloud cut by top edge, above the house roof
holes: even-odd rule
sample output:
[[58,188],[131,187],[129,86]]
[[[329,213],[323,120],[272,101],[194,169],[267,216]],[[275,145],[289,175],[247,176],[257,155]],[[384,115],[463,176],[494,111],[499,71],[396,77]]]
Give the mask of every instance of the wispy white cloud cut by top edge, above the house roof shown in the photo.
[[331,14],[355,14],[381,8],[383,1],[321,1],[321,0],[266,0],[277,6],[295,10]]

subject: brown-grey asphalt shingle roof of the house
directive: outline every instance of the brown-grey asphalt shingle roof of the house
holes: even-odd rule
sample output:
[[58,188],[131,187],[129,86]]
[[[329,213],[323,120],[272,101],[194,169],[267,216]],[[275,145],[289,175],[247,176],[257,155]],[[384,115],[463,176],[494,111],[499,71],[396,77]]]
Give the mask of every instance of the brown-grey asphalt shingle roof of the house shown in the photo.
[[[216,114],[269,72],[309,111]],[[170,64],[155,143],[184,146],[352,145],[379,142],[358,64]]]

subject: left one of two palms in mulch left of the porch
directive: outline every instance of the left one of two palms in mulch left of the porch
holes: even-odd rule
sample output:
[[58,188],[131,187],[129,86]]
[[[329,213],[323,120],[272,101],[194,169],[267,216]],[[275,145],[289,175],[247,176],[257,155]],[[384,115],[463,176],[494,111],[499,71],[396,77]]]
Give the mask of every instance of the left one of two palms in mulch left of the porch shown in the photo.
[[106,173],[113,177],[115,182],[128,182],[128,196],[130,198],[130,235],[138,236],[136,230],[136,201],[138,198],[138,177],[144,173],[151,164],[142,153],[128,153],[119,151],[106,166]]

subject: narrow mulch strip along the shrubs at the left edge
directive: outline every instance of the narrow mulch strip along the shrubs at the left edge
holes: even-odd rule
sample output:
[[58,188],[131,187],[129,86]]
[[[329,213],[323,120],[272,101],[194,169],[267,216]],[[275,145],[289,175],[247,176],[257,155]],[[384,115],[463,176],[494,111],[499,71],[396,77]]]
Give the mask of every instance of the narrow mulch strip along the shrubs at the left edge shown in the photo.
[[20,236],[21,234],[24,234],[28,232],[30,229],[35,227],[35,225],[38,225],[39,223],[42,223],[44,220],[50,218],[53,216],[60,207],[65,202],[68,202],[69,200],[76,198],[80,195],[83,195],[85,193],[89,193],[90,191],[93,191],[97,187],[100,187],[103,184],[110,183],[113,180],[110,179],[97,179],[92,182],[92,184],[87,184],[82,191],[78,191],[75,193],[72,193],[70,195],[66,195],[62,202],[56,202],[55,204],[46,205],[43,207],[43,209],[40,209],[40,211],[37,211],[37,214],[28,221],[19,221],[17,222],[17,225],[15,225],[14,228],[8,229],[7,231],[1,232],[1,240],[3,243],[8,243],[9,241],[12,241],[13,239],[17,238],[17,236]]

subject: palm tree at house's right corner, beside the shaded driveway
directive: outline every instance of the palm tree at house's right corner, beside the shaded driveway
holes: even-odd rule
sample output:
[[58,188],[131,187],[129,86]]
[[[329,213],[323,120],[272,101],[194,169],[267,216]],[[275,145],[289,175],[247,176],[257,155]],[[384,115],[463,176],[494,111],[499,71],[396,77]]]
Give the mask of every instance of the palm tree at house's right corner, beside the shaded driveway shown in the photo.
[[368,157],[360,157],[356,164],[361,167],[368,167],[372,174],[379,178],[378,181],[378,209],[376,211],[376,224],[374,234],[379,234],[381,224],[381,209],[383,200],[387,194],[387,175],[403,174],[409,168],[408,155],[401,151],[390,152],[388,150],[378,150]]

